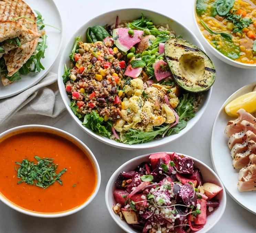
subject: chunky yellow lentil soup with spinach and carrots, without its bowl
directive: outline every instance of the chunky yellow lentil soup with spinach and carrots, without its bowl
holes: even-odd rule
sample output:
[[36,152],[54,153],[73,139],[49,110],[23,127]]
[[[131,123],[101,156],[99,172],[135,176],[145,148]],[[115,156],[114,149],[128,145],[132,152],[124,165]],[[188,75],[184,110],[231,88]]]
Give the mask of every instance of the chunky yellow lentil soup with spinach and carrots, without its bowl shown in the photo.
[[256,0],[197,0],[196,21],[206,40],[225,56],[256,64]]

